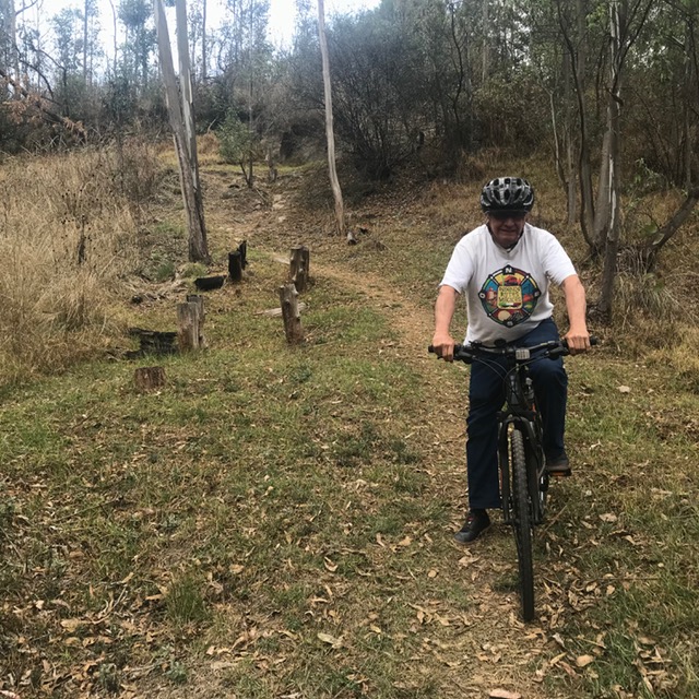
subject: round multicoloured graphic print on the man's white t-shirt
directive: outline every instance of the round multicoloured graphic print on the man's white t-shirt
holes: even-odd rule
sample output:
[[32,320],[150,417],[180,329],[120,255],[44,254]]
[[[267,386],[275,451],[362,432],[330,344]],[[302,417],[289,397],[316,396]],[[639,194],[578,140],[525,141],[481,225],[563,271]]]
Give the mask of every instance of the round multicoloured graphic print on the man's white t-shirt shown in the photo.
[[490,274],[478,293],[488,318],[506,328],[513,328],[530,318],[541,295],[531,274],[512,266]]

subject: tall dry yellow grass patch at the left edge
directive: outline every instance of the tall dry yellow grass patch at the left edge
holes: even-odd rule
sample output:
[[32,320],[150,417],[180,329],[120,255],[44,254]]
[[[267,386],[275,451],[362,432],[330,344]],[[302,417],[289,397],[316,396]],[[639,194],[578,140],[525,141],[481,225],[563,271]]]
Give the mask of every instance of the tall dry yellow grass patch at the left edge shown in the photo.
[[3,381],[102,346],[115,294],[138,261],[132,190],[147,194],[147,161],[143,152],[83,151],[0,168]]

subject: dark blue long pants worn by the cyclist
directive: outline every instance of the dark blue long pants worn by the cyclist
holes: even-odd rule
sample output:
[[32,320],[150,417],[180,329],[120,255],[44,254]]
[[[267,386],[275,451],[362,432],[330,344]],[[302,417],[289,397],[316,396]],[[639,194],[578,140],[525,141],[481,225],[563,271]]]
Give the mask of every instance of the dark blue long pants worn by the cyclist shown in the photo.
[[[553,319],[542,321],[512,344],[525,347],[548,340],[558,340],[558,329]],[[471,509],[500,507],[496,415],[505,402],[505,362],[495,363],[498,366],[487,366],[479,362],[471,365],[466,418],[466,465]],[[544,425],[544,452],[547,457],[555,458],[564,451],[568,376],[560,358],[534,362],[529,370]]]

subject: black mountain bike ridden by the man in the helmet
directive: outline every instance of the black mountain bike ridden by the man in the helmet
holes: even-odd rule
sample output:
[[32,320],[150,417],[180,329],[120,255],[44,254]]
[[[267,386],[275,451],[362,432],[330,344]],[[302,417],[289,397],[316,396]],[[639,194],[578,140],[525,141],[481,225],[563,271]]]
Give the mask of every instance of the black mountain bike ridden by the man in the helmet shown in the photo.
[[[590,344],[596,344],[594,337]],[[433,347],[429,347],[434,352]],[[541,415],[529,366],[568,355],[564,340],[531,347],[455,345],[454,360],[481,362],[502,377],[505,404],[497,414],[502,518],[514,530],[522,617],[534,618],[533,529],[544,520],[550,474],[546,470]],[[500,358],[505,362],[500,362]]]

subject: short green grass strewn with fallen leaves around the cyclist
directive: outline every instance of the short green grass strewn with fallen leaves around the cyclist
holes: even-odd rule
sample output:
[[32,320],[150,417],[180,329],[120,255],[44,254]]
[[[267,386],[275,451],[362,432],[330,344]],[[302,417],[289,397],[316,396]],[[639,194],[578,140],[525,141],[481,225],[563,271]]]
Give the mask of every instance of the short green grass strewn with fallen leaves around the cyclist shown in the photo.
[[[463,214],[440,213],[441,196],[376,226],[384,248],[307,232],[320,259],[297,347],[260,312],[285,273],[282,233],[261,233],[244,283],[205,297],[206,351],[4,389],[0,688],[697,696],[699,410],[684,345],[628,357],[609,336],[568,362],[574,477],[554,485],[537,532],[535,626],[519,623],[497,514],[483,543],[452,543],[464,372],[406,354],[391,320],[408,299],[430,316]],[[317,260],[362,279],[313,275]],[[369,300],[380,283],[394,303]],[[176,301],[130,308],[132,324],[171,329]],[[134,369],[153,364],[166,384],[140,393]]]

